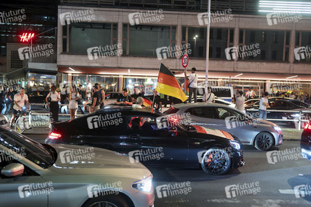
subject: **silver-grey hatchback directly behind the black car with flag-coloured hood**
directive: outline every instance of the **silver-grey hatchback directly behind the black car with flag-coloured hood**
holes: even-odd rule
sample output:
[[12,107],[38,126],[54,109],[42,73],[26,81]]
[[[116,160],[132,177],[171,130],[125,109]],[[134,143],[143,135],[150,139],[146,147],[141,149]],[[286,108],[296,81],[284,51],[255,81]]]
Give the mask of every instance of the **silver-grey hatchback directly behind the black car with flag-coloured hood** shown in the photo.
[[242,144],[253,145],[259,150],[269,150],[283,143],[283,134],[277,124],[255,119],[243,112],[219,103],[176,104],[165,115],[187,117],[188,124],[205,126],[230,132]]

